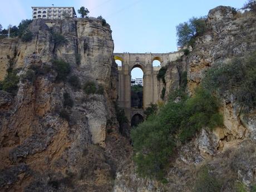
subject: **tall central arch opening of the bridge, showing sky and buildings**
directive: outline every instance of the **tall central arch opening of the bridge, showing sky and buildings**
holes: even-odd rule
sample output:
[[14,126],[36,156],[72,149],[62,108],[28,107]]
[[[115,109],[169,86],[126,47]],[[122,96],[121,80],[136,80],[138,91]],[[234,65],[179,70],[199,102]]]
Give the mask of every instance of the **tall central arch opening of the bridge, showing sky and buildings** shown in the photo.
[[135,65],[131,70],[131,108],[143,108],[143,76],[140,65]]

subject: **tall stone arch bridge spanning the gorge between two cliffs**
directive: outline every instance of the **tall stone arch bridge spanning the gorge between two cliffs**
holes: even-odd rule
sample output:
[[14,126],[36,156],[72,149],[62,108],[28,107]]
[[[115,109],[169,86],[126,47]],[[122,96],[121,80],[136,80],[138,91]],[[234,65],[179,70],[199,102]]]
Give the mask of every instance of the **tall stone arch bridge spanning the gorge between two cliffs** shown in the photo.
[[[114,53],[114,59],[120,60],[122,66],[118,66],[117,95],[119,106],[125,110],[125,115],[131,121],[136,114],[144,116],[144,110],[150,104],[156,104],[161,100],[160,82],[157,81],[157,73],[161,67],[170,61],[175,61],[183,55],[183,51],[173,53]],[[161,63],[153,67],[153,61]],[[131,107],[131,70],[141,68],[143,76],[143,106],[142,109]]]

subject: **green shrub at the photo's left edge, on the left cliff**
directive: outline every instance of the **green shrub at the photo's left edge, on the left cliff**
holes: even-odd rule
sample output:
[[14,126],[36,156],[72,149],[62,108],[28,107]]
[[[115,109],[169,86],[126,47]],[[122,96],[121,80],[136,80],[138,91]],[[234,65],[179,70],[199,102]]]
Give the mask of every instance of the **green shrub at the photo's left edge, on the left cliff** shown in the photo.
[[18,70],[13,70],[12,68],[7,70],[6,77],[0,82],[0,90],[12,93],[12,95],[16,95],[19,82],[17,72]]

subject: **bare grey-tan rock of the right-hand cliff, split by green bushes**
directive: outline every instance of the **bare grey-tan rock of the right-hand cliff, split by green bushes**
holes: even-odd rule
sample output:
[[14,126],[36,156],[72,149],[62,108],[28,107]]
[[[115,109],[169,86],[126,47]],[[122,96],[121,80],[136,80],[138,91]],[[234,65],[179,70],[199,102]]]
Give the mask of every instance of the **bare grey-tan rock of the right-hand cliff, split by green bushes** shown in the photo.
[[[206,21],[209,31],[196,39],[188,56],[168,66],[165,74],[165,99],[168,93],[179,87],[183,71],[188,72],[187,91],[193,95],[208,68],[255,51],[255,21],[255,14],[236,14],[231,7],[211,9]],[[130,162],[129,166],[117,173],[115,191],[192,191],[195,178],[198,178],[199,170],[205,165],[215,178],[229,180],[223,185],[222,191],[236,191],[235,181],[244,186],[254,184],[255,112],[243,115],[235,98],[229,94],[223,98],[221,112],[224,127],[213,132],[203,129],[193,141],[177,149],[176,156],[170,160],[167,184],[138,178],[134,164]]]

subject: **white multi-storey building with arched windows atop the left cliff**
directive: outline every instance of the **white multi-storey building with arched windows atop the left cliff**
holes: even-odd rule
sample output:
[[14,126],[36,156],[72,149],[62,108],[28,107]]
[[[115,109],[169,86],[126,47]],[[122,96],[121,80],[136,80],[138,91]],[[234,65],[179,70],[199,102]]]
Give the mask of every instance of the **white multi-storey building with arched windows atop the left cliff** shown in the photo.
[[32,7],[33,19],[63,19],[75,16],[76,11],[73,7]]

